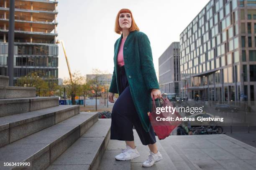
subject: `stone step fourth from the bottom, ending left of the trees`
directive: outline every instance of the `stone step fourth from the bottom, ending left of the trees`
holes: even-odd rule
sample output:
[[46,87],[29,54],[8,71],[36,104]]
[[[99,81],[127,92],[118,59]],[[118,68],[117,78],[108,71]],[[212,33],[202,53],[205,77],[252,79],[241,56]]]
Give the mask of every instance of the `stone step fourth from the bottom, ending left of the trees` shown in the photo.
[[31,112],[59,105],[59,97],[0,99],[0,117]]

